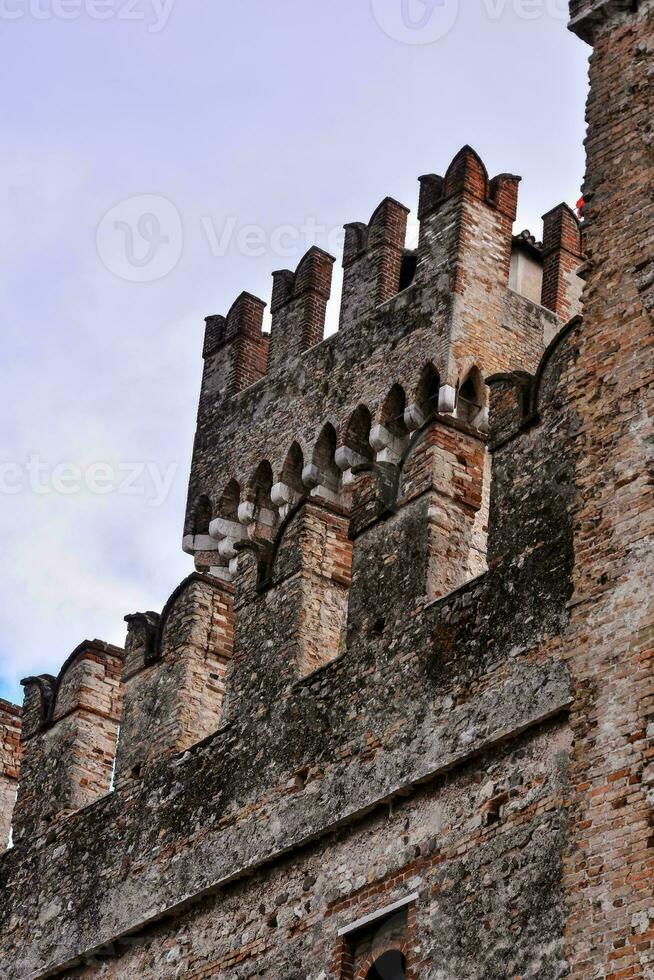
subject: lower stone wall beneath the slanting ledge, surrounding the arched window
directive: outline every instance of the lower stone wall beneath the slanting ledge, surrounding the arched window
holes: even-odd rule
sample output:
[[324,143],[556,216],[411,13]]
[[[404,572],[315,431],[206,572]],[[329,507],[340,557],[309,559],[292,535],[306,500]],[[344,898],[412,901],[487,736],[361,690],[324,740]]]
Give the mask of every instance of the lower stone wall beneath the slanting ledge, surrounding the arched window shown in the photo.
[[339,929],[411,894],[415,980],[560,976],[568,751],[567,726],[544,725],[66,976],[365,977],[384,924],[350,973]]

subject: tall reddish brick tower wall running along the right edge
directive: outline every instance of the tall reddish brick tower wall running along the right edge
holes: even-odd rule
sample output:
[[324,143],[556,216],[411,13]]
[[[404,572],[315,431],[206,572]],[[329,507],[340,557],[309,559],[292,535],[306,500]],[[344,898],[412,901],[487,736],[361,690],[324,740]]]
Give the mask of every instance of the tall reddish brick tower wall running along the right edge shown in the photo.
[[654,5],[575,3],[593,43],[585,321],[570,377],[571,976],[654,972]]

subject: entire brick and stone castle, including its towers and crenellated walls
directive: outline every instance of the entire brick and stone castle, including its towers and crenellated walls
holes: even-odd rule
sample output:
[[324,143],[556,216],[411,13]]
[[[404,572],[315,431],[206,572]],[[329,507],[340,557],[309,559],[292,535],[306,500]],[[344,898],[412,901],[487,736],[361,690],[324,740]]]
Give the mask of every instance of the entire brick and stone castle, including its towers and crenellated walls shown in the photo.
[[0,712],[8,980],[650,980],[654,0],[572,27],[583,226],[464,147],[209,319],[196,571]]

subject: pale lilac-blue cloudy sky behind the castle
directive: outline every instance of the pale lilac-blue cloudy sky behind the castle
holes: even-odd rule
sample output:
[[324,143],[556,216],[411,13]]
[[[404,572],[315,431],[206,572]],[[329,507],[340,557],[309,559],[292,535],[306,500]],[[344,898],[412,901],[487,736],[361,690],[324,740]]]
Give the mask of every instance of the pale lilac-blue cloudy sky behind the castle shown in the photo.
[[563,0],[0,0],[0,696],[190,571],[204,316],[464,143],[540,234],[587,56]]

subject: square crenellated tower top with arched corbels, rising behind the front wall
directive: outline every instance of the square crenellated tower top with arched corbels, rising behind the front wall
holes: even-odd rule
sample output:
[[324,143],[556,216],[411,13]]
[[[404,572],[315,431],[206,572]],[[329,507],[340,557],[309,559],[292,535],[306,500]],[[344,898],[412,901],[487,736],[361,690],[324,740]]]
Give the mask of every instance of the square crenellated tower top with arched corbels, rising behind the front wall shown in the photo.
[[322,343],[334,258],[314,247],[275,272],[265,371],[262,300],[208,321],[183,545],[198,571],[232,581],[238,549],[269,543],[305,496],[349,512],[355,468],[397,466],[434,413],[485,432],[484,377],[535,370],[580,309],[579,222],[560,205],[542,246],[514,236],[519,181],[466,146],[420,178],[415,251],[393,198],[347,224],[340,329]]

